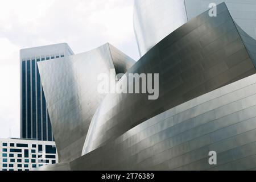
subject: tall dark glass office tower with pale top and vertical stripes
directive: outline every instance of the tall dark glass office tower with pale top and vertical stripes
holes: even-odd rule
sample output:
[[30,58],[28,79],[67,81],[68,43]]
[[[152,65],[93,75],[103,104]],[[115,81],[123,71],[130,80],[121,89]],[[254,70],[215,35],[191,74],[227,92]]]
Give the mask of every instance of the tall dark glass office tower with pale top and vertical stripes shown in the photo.
[[69,55],[67,43],[20,50],[20,138],[54,140],[37,63]]

